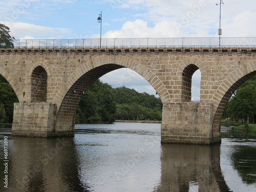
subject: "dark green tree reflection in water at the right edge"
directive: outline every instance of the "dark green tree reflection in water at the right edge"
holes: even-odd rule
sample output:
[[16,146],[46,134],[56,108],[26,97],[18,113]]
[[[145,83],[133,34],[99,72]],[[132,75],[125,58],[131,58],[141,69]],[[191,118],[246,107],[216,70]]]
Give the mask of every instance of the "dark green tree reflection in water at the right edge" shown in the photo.
[[255,146],[239,146],[232,153],[233,167],[246,184],[256,182]]

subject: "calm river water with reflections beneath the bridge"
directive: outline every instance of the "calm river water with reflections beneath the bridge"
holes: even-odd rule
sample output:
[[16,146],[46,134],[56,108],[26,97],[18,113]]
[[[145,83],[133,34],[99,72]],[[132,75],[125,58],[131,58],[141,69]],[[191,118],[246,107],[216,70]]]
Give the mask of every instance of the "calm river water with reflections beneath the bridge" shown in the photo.
[[256,191],[254,136],[223,127],[215,146],[161,144],[160,126],[77,124],[74,138],[59,139],[11,137],[2,126],[0,191]]

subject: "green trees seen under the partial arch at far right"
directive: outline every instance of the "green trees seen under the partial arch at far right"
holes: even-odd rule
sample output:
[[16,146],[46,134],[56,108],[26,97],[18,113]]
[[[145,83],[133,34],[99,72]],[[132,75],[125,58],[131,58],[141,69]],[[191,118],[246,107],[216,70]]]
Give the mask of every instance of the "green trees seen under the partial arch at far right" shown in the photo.
[[[254,120],[256,115],[256,77],[252,77],[240,86],[236,95],[228,101],[224,111],[224,117],[236,121],[242,119],[247,122]],[[248,122],[247,122],[248,123]]]

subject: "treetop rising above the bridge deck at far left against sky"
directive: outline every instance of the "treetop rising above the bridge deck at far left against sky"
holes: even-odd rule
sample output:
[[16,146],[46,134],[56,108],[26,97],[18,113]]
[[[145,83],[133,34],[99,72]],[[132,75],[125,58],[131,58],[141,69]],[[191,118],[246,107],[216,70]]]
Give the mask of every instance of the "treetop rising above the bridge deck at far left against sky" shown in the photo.
[[4,24],[0,24],[0,48],[13,48],[13,40],[10,34],[10,28]]

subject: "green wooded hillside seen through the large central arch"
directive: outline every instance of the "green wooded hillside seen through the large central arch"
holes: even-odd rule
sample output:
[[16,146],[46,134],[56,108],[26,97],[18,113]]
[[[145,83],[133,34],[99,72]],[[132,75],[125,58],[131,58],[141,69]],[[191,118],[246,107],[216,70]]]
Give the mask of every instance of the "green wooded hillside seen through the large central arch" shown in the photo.
[[125,87],[112,88],[97,80],[82,97],[76,123],[114,122],[115,120],[161,120],[160,98]]

